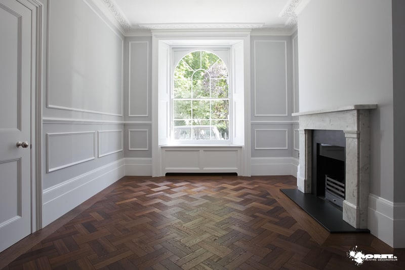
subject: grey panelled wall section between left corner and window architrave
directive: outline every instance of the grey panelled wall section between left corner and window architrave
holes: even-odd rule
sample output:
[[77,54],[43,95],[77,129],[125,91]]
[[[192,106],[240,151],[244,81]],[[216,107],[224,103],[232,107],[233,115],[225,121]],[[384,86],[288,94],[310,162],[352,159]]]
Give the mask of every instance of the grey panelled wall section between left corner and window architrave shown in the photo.
[[125,157],[152,157],[152,37],[125,39]]

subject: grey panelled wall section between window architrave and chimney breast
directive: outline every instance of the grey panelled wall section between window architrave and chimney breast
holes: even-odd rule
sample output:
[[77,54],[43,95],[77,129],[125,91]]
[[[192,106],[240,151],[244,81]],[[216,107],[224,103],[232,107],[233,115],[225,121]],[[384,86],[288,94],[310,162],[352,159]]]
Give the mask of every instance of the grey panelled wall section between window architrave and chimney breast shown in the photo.
[[298,63],[293,51],[297,40],[296,34],[251,36],[252,158],[298,158],[293,128],[298,119],[293,122],[291,117],[298,105],[294,102],[298,96],[298,88],[294,89],[298,70],[293,73]]

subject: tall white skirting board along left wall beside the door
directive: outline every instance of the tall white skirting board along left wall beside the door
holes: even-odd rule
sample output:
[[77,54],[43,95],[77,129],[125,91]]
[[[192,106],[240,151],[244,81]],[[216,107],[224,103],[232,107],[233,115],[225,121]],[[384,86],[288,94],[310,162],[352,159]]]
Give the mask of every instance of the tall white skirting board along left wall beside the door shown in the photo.
[[124,159],[109,163],[43,191],[45,227],[98,192],[125,176]]

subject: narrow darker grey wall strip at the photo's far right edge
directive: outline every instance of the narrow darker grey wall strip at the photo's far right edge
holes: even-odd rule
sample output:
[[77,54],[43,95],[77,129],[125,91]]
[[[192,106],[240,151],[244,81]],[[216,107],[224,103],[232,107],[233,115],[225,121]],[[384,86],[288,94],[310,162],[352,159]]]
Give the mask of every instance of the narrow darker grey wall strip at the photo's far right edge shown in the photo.
[[[394,100],[394,202],[403,203],[405,181],[403,177],[403,153],[405,152],[405,2],[392,0],[392,58],[393,58],[393,100]],[[396,124],[396,125],[395,125]]]

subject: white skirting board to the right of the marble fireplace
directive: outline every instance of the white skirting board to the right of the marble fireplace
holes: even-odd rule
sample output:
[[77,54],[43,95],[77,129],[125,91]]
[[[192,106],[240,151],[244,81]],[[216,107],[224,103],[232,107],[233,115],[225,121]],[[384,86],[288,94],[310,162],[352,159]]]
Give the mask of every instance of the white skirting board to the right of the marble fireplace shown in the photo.
[[372,235],[393,248],[405,248],[405,203],[370,194],[367,224]]

